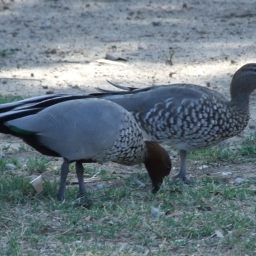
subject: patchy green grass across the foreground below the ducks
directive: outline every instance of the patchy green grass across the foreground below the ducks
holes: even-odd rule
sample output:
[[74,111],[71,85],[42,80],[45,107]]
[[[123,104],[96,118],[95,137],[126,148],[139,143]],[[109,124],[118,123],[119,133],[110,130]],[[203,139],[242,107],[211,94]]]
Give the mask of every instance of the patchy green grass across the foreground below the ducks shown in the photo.
[[[143,178],[148,180],[145,173]],[[216,255],[215,250],[254,255],[256,250],[256,179],[241,186],[209,178],[195,186],[166,180],[152,195],[127,178],[122,186],[88,191],[94,198],[90,209],[74,206],[77,188],[68,188],[65,202],[58,202],[58,184],[44,185],[35,195],[26,178],[0,177],[2,255],[36,255],[38,248],[51,255]],[[152,218],[152,207],[163,214]]]

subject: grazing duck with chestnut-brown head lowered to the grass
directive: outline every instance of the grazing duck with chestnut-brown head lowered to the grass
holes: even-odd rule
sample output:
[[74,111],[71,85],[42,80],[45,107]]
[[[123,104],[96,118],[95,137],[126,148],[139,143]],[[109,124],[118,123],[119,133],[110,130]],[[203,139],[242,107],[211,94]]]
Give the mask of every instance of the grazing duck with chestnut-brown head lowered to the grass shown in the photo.
[[83,95],[72,97],[51,95],[2,104],[0,132],[21,138],[46,156],[63,157],[58,200],[64,198],[73,162],[78,197],[85,196],[83,163],[107,161],[144,163],[152,180],[152,192],[156,193],[172,166],[164,148],[144,141],[132,115],[118,104]]

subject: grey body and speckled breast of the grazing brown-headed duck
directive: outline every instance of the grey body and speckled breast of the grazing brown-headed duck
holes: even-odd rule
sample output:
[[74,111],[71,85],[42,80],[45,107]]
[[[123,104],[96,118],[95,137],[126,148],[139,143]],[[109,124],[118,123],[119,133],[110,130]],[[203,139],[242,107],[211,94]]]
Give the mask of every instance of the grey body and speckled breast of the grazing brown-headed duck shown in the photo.
[[40,143],[69,161],[130,163],[145,154],[140,128],[132,115],[108,100],[70,100],[7,125],[36,134]]

